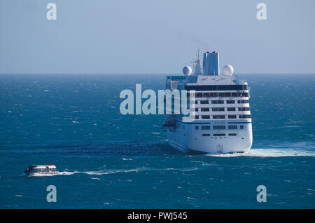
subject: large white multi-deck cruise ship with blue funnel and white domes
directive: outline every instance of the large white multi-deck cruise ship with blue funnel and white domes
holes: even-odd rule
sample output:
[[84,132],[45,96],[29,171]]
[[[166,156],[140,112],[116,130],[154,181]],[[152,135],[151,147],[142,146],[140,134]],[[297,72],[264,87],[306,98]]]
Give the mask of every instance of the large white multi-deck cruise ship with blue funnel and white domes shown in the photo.
[[231,65],[220,74],[216,52],[204,53],[202,62],[198,52],[194,64],[194,69],[184,67],[183,76],[167,76],[166,89],[184,89],[188,94],[195,90],[195,106],[190,108],[194,112],[192,121],[183,121],[183,114],[166,115],[163,129],[169,145],[184,153],[249,151],[253,133],[247,81],[237,79]]

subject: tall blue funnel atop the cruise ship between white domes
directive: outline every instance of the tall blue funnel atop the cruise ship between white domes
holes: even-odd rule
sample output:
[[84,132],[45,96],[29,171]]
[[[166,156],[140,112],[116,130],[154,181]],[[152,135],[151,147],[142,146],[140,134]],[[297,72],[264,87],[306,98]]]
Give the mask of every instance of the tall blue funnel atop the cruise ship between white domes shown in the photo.
[[213,51],[212,53],[204,53],[203,75],[218,76],[220,75],[219,54]]

